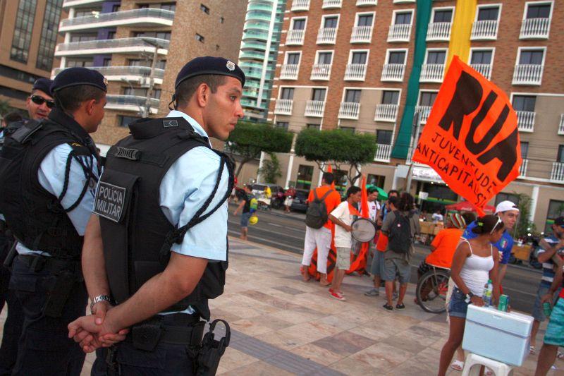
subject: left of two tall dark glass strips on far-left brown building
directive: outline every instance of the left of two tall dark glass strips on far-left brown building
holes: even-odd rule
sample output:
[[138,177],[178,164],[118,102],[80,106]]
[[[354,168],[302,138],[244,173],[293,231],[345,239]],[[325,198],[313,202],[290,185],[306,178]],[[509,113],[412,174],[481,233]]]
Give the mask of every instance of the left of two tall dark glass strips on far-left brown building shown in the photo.
[[37,0],[20,0],[18,13],[16,13],[16,26],[13,29],[12,48],[10,59],[27,63],[27,55],[30,52],[30,43],[35,19],[35,8]]

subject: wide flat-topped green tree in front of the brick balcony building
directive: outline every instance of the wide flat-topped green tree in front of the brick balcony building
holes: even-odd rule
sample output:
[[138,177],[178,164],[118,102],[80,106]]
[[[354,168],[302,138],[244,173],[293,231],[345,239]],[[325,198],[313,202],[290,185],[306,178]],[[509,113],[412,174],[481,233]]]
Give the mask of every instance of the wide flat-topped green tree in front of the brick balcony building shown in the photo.
[[296,139],[295,154],[316,162],[321,170],[321,164],[325,162],[338,170],[343,170],[342,166],[348,164],[347,179],[353,185],[361,176],[360,166],[374,161],[376,136],[342,129],[304,129]]

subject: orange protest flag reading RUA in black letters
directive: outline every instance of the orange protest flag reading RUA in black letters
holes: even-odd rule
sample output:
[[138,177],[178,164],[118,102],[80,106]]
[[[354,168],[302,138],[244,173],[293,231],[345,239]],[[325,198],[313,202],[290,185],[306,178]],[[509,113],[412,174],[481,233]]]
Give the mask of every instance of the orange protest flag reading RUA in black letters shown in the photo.
[[455,56],[412,157],[482,208],[519,176],[517,114],[499,87]]

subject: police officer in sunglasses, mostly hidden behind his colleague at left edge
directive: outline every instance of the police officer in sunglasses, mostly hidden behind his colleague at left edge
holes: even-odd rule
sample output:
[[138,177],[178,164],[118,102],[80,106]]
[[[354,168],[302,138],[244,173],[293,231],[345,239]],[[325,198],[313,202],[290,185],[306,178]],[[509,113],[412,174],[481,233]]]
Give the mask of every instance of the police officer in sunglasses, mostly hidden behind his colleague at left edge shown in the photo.
[[[47,78],[38,78],[33,83],[30,97],[27,97],[25,106],[30,119],[45,119],[54,107],[53,97],[51,96],[51,83],[53,81]],[[7,120],[6,117],[4,120]],[[20,116],[21,119],[21,116]],[[6,122],[13,128],[21,126],[24,121],[14,123]],[[4,128],[0,128],[0,150],[4,145]],[[2,331],[2,344],[0,346],[0,375],[11,375],[13,365],[18,354],[18,340],[20,339],[23,326],[23,310],[16,294],[8,289],[10,281],[10,271],[3,267],[8,250],[13,244],[13,236],[11,231],[6,227],[4,215],[0,214],[0,310],[4,307],[4,303],[8,306],[8,315],[4,323]]]

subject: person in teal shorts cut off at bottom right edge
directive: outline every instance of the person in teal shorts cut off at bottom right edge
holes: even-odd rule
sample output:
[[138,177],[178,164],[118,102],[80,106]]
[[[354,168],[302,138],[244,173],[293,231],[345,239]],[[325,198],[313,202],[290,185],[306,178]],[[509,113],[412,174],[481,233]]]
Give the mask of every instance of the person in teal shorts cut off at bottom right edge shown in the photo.
[[[554,276],[551,288],[548,293],[543,296],[541,302],[552,302],[554,293],[562,286],[562,269]],[[534,376],[546,376],[548,370],[556,360],[558,347],[564,346],[564,289],[560,290],[558,301],[552,309],[550,321],[546,327],[544,334],[544,343],[539,353],[539,360],[537,363],[537,371]]]

